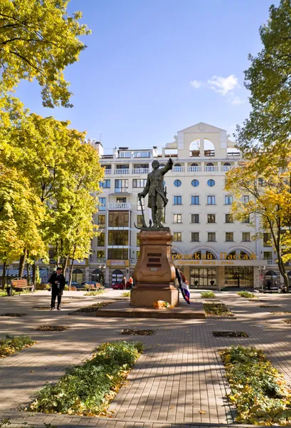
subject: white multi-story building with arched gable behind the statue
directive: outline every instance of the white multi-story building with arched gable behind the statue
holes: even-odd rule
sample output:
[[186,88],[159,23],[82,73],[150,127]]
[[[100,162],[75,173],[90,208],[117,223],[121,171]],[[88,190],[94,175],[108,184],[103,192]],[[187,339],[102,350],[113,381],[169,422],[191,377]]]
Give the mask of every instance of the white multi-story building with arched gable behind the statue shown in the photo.
[[[248,218],[240,223],[229,213],[233,196],[224,190],[225,174],[243,165],[243,160],[225,130],[197,123],[179,131],[162,150],[155,146],[139,150],[120,147],[106,156],[101,143],[91,143],[105,168],[95,215],[100,235],[92,241],[90,259],[75,266],[74,280],[97,280],[104,275],[105,282],[111,284],[133,272],[139,255],[139,231],[134,223],[141,225],[142,218],[137,193],[144,188],[152,161],[158,160],[162,166],[170,156],[174,167],[164,177],[169,199],[165,226],[174,235],[174,263],[184,271],[191,287],[260,287],[270,271],[279,277],[272,248],[264,246],[270,237],[265,234],[261,240],[251,239],[259,231],[259,220],[250,227]],[[147,198],[144,213],[149,223]]]

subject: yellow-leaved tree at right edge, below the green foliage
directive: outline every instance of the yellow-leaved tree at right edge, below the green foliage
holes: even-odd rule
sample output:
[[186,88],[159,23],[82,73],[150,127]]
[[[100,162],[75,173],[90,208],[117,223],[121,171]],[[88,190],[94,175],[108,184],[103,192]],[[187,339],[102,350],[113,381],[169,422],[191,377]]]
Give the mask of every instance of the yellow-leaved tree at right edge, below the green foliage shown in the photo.
[[[285,263],[291,260],[291,151],[270,147],[253,156],[245,166],[226,174],[226,190],[236,196],[232,214],[236,220],[251,216],[260,219],[260,230],[253,236],[271,235],[271,245],[277,253],[277,265],[289,289]],[[248,201],[242,200],[249,195]]]

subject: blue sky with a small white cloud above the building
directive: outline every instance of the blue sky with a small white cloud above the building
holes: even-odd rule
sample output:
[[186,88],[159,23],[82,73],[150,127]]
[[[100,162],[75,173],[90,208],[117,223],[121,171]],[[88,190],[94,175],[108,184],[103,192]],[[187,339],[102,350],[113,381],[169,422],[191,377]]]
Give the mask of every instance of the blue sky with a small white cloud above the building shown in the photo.
[[[92,34],[69,66],[74,107],[43,108],[36,83],[16,94],[31,111],[72,122],[109,150],[164,146],[198,122],[235,131],[248,117],[243,71],[261,49],[271,0],[71,0]],[[277,4],[277,1],[275,1]],[[105,152],[107,153],[107,152]]]

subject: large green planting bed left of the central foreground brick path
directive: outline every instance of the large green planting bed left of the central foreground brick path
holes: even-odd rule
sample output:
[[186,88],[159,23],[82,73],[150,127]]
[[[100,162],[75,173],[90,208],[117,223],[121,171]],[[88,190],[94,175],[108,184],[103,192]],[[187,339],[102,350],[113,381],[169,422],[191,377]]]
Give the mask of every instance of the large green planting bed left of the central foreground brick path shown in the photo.
[[143,349],[141,342],[103,343],[83,365],[68,369],[56,384],[46,384],[26,410],[105,415]]

